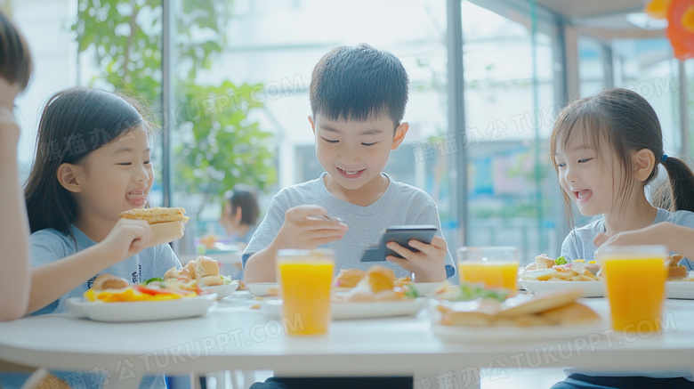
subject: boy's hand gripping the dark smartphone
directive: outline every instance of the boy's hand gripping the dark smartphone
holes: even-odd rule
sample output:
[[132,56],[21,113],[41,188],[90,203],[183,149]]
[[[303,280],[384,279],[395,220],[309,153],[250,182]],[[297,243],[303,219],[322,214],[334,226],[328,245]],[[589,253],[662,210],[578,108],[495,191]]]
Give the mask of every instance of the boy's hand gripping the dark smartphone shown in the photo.
[[392,241],[388,242],[386,247],[401,255],[402,258],[388,255],[385,257],[385,260],[397,263],[401,268],[415,273],[416,282],[446,280],[445,259],[448,252],[446,240],[434,236],[432,243],[427,244],[416,239],[410,239],[408,245],[419,251],[412,251]]

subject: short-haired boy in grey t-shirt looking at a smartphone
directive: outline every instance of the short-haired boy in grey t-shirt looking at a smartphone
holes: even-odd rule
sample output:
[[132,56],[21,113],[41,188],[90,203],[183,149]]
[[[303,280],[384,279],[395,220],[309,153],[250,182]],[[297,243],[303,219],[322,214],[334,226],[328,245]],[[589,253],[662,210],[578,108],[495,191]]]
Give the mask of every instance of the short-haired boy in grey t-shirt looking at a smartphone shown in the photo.
[[[275,280],[281,248],[332,248],[335,271],[367,269],[373,263],[359,262],[364,247],[386,226],[400,224],[433,224],[439,232],[431,244],[410,241],[419,252],[391,242],[404,259],[390,255],[385,265],[398,277],[414,273],[419,282],[452,277],[436,204],[424,190],[383,173],[408,133],[402,122],[408,75],[400,61],[365,44],[337,47],[313,69],[309,93],[316,155],[326,173],[272,198],[243,255],[246,284]],[[317,217],[326,215],[333,218]]]

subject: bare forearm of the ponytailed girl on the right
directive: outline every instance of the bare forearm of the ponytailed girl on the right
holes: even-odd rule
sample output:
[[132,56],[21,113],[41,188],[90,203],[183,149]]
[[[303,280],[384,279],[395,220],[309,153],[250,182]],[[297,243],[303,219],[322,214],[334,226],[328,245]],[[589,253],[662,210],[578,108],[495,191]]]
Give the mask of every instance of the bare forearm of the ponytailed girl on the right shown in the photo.
[[595,237],[595,246],[666,245],[669,251],[694,259],[694,228],[663,222],[641,230],[619,232],[608,239],[605,234]]

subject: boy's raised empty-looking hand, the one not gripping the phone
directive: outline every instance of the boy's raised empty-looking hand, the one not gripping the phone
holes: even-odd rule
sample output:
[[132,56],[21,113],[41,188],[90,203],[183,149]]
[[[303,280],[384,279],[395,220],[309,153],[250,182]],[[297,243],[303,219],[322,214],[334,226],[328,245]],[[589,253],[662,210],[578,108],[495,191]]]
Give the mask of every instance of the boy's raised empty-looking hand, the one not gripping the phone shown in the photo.
[[324,207],[298,206],[286,210],[275,243],[278,248],[315,248],[343,239],[347,229],[347,224],[329,217]]

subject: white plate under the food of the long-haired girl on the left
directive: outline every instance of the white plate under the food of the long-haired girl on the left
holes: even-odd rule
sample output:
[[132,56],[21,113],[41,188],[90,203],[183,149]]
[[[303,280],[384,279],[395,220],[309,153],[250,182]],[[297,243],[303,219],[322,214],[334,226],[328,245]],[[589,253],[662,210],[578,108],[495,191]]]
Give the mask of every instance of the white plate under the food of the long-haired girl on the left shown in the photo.
[[202,316],[214,308],[217,295],[179,298],[162,301],[132,301],[124,303],[95,303],[82,297],[65,301],[69,311],[79,318],[97,321],[149,321]]

